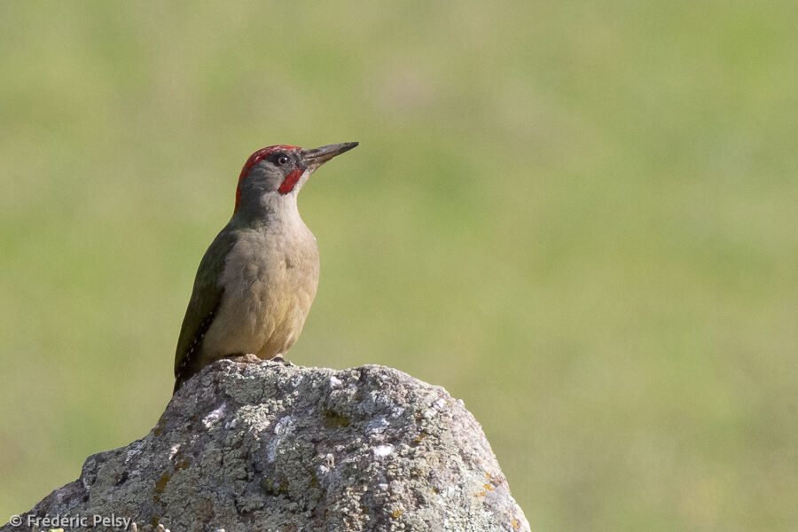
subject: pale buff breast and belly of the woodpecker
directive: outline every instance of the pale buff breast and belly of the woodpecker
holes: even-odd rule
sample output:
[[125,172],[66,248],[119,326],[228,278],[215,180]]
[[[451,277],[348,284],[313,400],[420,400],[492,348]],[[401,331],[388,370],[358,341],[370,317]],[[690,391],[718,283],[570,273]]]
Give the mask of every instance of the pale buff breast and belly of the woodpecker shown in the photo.
[[[258,236],[255,235],[254,238]],[[224,294],[203,341],[203,358],[253,353],[269,359],[299,337],[318,286],[316,240],[290,253],[270,242],[239,242],[222,276]]]

